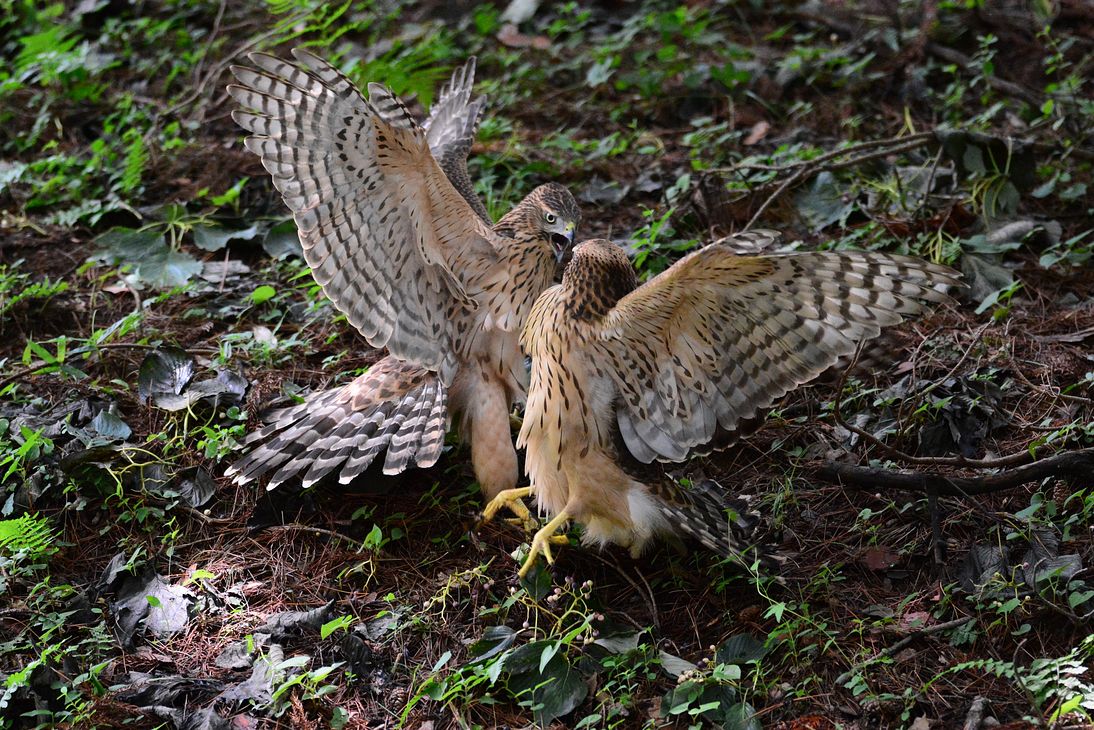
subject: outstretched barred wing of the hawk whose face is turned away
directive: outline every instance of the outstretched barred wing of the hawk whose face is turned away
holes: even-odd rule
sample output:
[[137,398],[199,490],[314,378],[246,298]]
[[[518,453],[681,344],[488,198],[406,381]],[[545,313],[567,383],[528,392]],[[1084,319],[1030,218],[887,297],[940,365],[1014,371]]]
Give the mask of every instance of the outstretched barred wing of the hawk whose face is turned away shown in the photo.
[[715,244],[619,300],[591,359],[618,389],[631,454],[679,461],[923,302],[946,300],[933,287],[956,277],[907,256],[738,256]]

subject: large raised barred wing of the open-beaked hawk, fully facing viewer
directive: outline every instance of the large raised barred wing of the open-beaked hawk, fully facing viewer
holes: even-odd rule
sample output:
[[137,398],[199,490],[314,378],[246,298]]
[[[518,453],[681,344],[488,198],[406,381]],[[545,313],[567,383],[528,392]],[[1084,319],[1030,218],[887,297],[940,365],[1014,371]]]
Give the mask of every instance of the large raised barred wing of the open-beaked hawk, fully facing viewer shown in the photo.
[[496,234],[387,89],[369,84],[365,100],[326,61],[293,56],[233,67],[229,91],[254,111],[232,117],[254,135],[247,149],[292,210],[324,293],[370,345],[451,383],[458,331],[497,278]]

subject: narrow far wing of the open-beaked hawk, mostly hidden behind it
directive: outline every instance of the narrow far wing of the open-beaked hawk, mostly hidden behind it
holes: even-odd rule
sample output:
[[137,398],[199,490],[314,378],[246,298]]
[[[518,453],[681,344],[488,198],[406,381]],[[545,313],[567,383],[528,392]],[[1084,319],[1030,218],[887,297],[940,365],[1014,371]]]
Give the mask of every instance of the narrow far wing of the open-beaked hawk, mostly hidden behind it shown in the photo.
[[470,175],[467,174],[467,155],[470,154],[478,131],[479,117],[486,97],[472,101],[472,85],[475,83],[475,57],[452,73],[452,79],[441,89],[440,99],[429,111],[429,118],[422,128],[426,141],[441,170],[452,181],[452,185],[479,218],[490,223],[490,215],[482,201],[475,195]]

